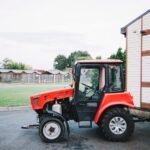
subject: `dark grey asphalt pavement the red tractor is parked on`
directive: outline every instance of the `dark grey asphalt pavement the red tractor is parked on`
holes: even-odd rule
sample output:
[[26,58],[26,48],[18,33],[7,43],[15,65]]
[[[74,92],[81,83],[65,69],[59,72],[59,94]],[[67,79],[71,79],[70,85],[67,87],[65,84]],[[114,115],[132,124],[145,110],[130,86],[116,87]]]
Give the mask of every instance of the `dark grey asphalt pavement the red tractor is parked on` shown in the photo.
[[0,112],[0,150],[148,150],[150,149],[150,123],[136,124],[135,132],[128,142],[108,142],[98,127],[79,129],[70,122],[68,141],[46,144],[41,141],[37,129],[22,130],[24,124],[36,123],[32,110]]

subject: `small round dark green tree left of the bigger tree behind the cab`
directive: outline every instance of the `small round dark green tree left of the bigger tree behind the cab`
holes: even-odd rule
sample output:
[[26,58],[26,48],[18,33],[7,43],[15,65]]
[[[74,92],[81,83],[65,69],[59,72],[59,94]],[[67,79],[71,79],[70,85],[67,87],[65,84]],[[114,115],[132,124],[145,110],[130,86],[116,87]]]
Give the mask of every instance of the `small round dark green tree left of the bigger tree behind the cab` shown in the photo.
[[54,60],[54,68],[64,70],[67,67],[67,58],[64,55],[58,55]]

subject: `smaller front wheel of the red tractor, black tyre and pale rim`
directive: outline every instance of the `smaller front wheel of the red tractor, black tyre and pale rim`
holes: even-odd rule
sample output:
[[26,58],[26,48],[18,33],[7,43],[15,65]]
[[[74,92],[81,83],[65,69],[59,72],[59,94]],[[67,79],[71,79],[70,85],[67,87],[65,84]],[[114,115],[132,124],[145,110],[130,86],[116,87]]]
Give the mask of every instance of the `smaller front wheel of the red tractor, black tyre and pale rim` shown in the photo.
[[[58,133],[58,135],[56,134],[56,136],[54,136],[55,130]],[[60,119],[54,117],[42,118],[41,123],[39,125],[39,135],[42,141],[46,143],[61,141],[64,137],[64,133],[65,133],[65,126]],[[52,137],[51,134],[53,134],[54,137]]]

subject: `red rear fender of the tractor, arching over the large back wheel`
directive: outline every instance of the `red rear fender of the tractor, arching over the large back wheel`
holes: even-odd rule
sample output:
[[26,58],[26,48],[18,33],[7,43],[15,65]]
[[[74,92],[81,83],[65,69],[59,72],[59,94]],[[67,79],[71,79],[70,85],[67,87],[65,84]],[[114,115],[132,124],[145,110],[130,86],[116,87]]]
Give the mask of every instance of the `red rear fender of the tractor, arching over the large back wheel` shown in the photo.
[[96,115],[94,117],[94,122],[98,123],[99,118],[103,114],[103,112],[115,105],[124,105],[130,108],[134,108],[133,104],[133,97],[130,95],[129,92],[123,92],[123,93],[106,93],[101,100],[101,104],[98,108],[98,111],[96,112]]

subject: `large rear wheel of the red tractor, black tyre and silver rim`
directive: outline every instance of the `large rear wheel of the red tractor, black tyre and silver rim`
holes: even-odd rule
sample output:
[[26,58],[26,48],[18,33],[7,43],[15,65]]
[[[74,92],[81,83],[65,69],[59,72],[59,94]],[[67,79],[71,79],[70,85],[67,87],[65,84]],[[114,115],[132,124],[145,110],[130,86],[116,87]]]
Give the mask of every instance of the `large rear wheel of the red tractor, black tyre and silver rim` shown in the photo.
[[[116,123],[117,121],[119,123]],[[100,127],[104,138],[107,140],[126,141],[134,131],[134,122],[128,111],[120,107],[114,107],[105,112]]]

